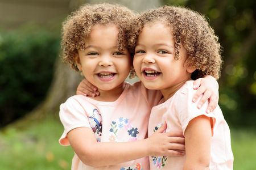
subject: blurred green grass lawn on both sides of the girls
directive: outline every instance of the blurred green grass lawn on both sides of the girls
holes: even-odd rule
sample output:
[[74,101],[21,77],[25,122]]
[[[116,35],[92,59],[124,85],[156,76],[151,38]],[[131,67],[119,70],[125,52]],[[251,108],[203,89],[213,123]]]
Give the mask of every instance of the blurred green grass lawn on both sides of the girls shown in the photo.
[[[0,131],[0,169],[71,169],[73,151],[58,139],[63,131],[59,120],[47,118],[27,128]],[[256,130],[232,129],[234,169],[256,169]]]

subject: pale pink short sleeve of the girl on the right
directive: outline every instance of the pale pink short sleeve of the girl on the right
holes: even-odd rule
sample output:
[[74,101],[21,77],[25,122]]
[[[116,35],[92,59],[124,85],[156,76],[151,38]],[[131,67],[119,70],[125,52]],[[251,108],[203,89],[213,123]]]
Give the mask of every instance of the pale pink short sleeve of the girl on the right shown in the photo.
[[216,122],[216,116],[214,113],[207,113],[207,106],[208,101],[203,104],[201,109],[197,108],[197,104],[199,103],[202,96],[194,103],[192,102],[192,97],[195,94],[196,90],[193,90],[193,81],[187,82],[181,89],[179,90],[178,94],[175,96],[176,105],[176,113],[179,121],[181,123],[181,128],[183,129],[183,134],[185,129],[187,128],[189,121],[193,118],[204,115],[210,118],[210,125],[212,128],[212,135],[213,135],[213,128]]

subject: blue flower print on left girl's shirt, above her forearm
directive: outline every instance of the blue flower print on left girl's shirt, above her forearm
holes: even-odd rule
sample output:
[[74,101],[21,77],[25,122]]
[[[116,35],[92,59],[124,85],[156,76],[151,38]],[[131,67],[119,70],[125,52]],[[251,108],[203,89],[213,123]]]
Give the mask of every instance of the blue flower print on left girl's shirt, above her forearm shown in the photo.
[[[119,117],[110,124],[110,142],[124,142],[124,141],[136,141],[139,134],[138,128],[131,125],[128,118]],[[121,134],[122,139],[118,139],[118,133]],[[125,135],[126,134],[126,135]]]

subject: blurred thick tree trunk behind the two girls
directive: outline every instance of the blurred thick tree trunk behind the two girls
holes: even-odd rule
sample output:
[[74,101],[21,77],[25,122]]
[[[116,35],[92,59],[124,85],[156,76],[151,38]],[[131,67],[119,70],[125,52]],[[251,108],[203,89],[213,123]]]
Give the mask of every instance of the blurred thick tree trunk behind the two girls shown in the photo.
[[[82,0],[71,0],[69,3],[69,11],[73,11],[83,3],[119,3],[126,7],[129,7],[135,12],[144,11],[148,8],[155,8],[160,6],[160,1],[155,0],[112,0],[112,1],[82,1]],[[76,71],[65,65],[59,57],[56,59],[55,63],[55,74],[53,75],[53,80],[51,87],[47,93],[46,99],[38,105],[33,111],[28,113],[22,119],[14,122],[12,126],[16,128],[22,128],[24,125],[29,124],[29,122],[39,120],[46,116],[56,116],[59,112],[59,107],[61,103],[64,103],[68,97],[75,95],[76,88],[79,82],[82,80],[82,76]]]

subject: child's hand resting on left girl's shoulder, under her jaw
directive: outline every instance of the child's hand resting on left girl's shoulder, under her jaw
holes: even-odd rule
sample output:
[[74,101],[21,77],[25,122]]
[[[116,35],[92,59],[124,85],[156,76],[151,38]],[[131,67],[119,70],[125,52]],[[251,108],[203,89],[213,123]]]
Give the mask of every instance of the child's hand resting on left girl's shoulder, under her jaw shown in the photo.
[[100,92],[98,92],[97,87],[93,86],[88,80],[83,79],[77,87],[76,94],[96,97],[100,95]]

